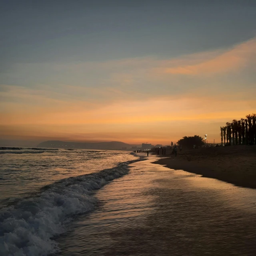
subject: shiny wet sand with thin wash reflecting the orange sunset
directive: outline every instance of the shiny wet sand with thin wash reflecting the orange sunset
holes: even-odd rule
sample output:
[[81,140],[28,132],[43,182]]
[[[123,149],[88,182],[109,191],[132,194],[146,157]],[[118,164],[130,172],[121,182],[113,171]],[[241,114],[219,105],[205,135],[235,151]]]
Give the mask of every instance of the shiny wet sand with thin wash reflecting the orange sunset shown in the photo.
[[62,255],[256,254],[255,190],[150,161],[97,192],[96,211],[59,238]]

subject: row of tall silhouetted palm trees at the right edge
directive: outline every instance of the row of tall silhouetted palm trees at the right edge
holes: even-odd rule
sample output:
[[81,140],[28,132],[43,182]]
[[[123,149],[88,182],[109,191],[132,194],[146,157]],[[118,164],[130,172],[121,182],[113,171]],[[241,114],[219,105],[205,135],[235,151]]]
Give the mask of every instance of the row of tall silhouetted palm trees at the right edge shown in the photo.
[[226,122],[226,126],[220,127],[220,136],[222,146],[223,140],[224,146],[256,144],[256,114]]

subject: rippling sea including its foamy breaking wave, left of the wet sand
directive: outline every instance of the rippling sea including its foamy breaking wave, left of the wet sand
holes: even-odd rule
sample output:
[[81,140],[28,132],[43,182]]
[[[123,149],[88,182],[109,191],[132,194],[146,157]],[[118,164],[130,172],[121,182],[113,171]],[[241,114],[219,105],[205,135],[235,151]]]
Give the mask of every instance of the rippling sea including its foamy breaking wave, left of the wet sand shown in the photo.
[[48,255],[54,236],[94,209],[95,191],[143,160],[130,152],[0,148],[0,255]]

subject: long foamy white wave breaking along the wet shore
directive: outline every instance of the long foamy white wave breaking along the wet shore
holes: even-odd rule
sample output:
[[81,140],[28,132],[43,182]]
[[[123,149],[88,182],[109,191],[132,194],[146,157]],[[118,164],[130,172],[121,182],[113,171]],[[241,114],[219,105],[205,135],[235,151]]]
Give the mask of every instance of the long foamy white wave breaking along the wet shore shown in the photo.
[[76,214],[93,210],[93,196],[111,180],[129,172],[129,164],[82,176],[66,178],[45,186],[37,196],[25,198],[0,210],[0,255],[35,256],[60,252],[52,238],[65,232],[65,223]]

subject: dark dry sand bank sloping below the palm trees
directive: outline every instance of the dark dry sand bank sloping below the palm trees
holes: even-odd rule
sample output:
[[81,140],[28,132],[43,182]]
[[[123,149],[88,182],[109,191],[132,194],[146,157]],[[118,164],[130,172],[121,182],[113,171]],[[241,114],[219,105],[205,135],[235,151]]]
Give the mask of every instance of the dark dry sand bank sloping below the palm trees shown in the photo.
[[176,157],[171,155],[154,164],[216,178],[236,186],[256,188],[256,145],[182,150]]

